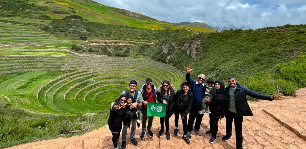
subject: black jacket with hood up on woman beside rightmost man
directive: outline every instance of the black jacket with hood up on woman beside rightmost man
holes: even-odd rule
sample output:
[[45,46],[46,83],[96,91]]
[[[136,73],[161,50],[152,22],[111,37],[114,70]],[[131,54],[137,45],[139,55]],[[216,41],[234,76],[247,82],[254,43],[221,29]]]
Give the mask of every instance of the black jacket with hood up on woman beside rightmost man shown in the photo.
[[228,98],[224,97],[224,82],[222,80],[216,80],[214,86],[217,82],[220,84],[220,89],[216,90],[216,94],[212,97],[211,102],[209,102],[209,110],[217,117],[224,117]]

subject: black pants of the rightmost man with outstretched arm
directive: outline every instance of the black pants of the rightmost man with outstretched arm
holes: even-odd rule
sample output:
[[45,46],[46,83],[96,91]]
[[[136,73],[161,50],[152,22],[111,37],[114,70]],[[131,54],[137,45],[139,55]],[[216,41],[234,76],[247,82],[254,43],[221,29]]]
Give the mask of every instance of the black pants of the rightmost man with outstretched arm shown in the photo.
[[242,121],[243,116],[237,115],[237,113],[233,113],[228,111],[226,113],[226,136],[232,136],[232,124],[233,120],[235,121],[235,133],[236,133],[236,148],[242,149]]

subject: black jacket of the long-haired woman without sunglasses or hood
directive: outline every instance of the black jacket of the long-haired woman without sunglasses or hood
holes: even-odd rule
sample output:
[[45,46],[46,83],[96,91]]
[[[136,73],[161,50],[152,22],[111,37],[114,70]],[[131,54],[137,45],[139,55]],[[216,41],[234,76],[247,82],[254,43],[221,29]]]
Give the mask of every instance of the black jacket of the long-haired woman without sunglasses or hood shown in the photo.
[[184,99],[181,99],[181,92],[182,90],[177,90],[172,99],[170,106],[170,117],[174,113],[174,110],[180,111],[182,117],[187,117],[188,113],[190,112],[193,102],[193,94],[191,94],[191,97],[189,97],[187,94]]

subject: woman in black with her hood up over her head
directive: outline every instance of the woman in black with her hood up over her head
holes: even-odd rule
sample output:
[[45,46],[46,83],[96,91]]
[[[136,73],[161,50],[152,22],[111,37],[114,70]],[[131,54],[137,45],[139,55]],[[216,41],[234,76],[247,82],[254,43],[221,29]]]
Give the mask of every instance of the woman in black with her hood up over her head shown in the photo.
[[214,143],[216,140],[218,132],[218,121],[225,116],[225,105],[227,102],[227,97],[224,97],[224,82],[222,80],[217,80],[214,82],[214,86],[217,90],[215,96],[213,96],[211,102],[209,102],[209,108],[211,113],[209,114],[209,125],[210,130],[206,132],[207,135],[211,135],[209,143]]

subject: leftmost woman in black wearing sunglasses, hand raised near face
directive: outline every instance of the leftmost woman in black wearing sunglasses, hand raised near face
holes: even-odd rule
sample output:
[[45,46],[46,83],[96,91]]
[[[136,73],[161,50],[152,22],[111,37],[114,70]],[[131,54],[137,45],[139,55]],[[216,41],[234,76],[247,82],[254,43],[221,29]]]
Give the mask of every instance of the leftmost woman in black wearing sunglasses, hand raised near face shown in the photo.
[[115,101],[114,105],[110,109],[110,116],[108,117],[108,128],[110,128],[110,132],[113,135],[112,141],[114,144],[114,148],[118,149],[117,142],[120,137],[120,132],[122,128],[122,121],[125,117],[125,105],[126,103],[126,95],[120,95],[120,97]]

